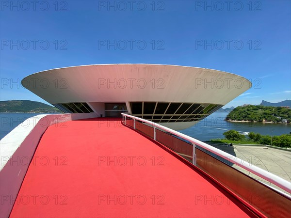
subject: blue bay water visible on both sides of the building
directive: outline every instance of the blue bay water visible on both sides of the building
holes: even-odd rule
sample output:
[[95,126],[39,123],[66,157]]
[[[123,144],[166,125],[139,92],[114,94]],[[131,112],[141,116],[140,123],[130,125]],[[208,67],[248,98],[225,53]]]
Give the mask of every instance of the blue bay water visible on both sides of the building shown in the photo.
[[[290,124],[227,122],[225,121],[227,114],[228,112],[214,112],[196,125],[179,132],[202,141],[224,138],[223,133],[231,129],[244,135],[249,132],[256,132],[261,135],[273,134],[275,136],[291,132]],[[38,113],[0,113],[0,139],[16,128],[17,125],[36,115]]]

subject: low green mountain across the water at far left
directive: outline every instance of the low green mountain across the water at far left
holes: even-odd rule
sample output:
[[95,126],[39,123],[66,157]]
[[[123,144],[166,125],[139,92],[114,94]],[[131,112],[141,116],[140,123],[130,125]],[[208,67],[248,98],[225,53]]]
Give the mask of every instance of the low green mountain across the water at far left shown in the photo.
[[38,101],[12,100],[0,101],[0,112],[21,113],[62,113],[61,110]]

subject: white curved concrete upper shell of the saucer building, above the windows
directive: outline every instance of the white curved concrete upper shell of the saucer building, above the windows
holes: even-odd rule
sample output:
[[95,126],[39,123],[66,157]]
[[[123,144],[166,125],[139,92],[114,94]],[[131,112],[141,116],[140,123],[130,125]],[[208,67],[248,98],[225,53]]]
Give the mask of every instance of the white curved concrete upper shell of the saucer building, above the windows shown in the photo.
[[102,64],[32,74],[22,85],[50,104],[69,102],[197,102],[225,105],[251,87],[246,78],[206,68]]

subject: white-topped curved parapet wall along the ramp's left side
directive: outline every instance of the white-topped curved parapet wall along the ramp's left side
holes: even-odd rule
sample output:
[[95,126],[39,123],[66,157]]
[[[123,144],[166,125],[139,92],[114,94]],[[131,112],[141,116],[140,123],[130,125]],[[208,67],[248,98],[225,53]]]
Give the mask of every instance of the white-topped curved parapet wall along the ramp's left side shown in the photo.
[[0,217],[9,217],[39,140],[50,125],[97,117],[96,113],[37,115],[0,140]]

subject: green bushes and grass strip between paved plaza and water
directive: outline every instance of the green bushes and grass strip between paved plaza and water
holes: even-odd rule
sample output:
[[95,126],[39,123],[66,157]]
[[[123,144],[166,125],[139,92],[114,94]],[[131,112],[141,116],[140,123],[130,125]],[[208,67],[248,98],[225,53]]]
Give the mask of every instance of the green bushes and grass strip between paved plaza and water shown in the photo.
[[261,135],[259,133],[250,132],[248,138],[241,135],[238,131],[229,130],[224,133],[226,139],[214,139],[211,142],[236,143],[236,144],[266,144],[284,148],[291,148],[291,134],[283,134],[280,136]]

